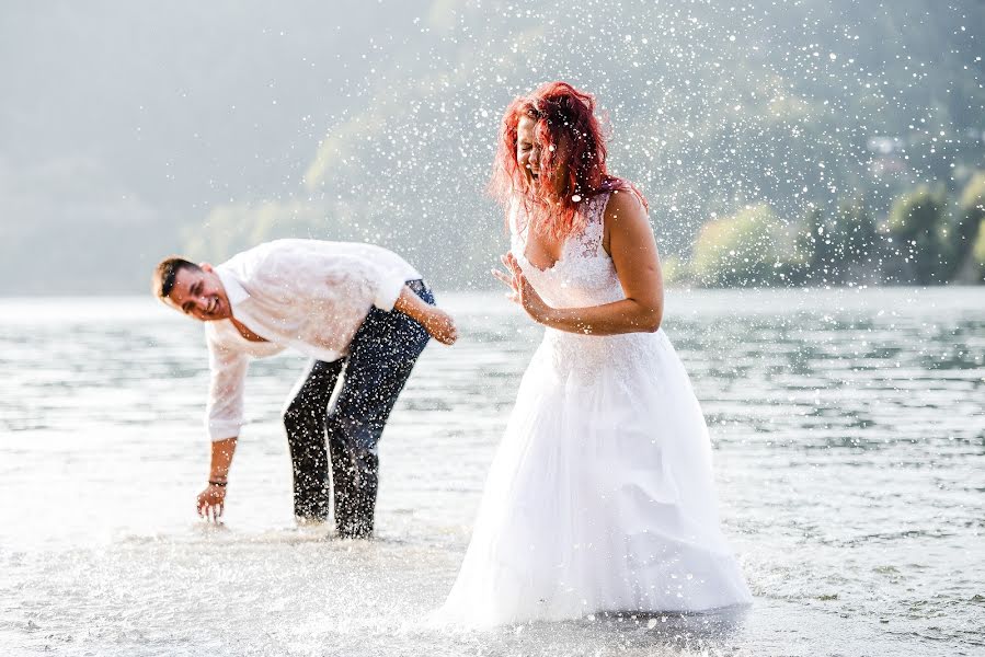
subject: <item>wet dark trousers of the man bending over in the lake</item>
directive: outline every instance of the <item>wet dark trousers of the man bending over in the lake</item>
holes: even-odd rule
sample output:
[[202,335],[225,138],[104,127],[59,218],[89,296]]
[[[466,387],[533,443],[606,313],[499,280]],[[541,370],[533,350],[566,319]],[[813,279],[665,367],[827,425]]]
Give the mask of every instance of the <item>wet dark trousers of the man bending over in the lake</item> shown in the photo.
[[[434,304],[424,281],[412,280],[408,286]],[[328,520],[331,463],[339,535],[373,533],[379,486],[377,443],[428,337],[421,324],[402,312],[374,307],[353,336],[348,356],[312,364],[284,413],[294,462],[294,512],[299,520]],[[341,390],[330,408],[340,379]]]

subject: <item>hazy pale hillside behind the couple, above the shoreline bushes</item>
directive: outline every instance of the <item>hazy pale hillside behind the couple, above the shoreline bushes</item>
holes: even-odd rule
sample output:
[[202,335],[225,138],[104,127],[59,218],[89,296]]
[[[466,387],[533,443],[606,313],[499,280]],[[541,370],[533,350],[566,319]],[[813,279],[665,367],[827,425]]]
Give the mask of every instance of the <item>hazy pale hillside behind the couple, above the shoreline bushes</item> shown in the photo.
[[284,235],[484,287],[497,124],[553,79],[608,112],[668,263],[763,203],[791,240],[846,198],[884,229],[985,169],[983,26],[977,0],[3,2],[0,293],[140,293],[171,252]]

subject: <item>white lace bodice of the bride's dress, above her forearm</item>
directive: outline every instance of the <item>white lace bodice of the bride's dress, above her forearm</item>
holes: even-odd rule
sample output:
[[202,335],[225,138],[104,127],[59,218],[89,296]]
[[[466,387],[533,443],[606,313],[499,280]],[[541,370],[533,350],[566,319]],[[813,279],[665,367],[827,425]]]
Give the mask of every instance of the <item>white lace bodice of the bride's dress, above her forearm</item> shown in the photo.
[[514,206],[509,216],[513,254],[530,285],[548,304],[581,308],[625,298],[612,258],[602,245],[605,209],[610,195],[598,194],[582,204],[580,211],[585,214],[585,230],[564,242],[561,258],[548,269],[538,269],[527,260],[530,221],[523,208]]

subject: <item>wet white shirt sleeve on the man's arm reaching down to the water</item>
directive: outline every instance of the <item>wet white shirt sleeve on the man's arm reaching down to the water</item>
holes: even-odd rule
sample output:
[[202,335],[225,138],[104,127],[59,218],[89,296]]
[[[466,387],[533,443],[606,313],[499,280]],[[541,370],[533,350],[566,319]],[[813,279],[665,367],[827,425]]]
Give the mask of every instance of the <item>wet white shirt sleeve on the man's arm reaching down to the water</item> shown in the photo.
[[211,380],[205,417],[208,435],[215,442],[239,436],[243,426],[243,391],[250,357],[209,339],[208,365]]

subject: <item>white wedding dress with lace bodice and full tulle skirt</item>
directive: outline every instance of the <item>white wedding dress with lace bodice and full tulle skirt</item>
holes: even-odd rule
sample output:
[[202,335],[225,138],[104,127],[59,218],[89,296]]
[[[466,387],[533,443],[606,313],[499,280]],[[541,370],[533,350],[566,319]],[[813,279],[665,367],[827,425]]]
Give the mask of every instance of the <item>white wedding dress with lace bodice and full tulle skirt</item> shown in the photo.
[[[513,254],[550,306],[625,298],[602,246],[608,198],[582,204],[585,231],[547,270],[524,256],[528,222],[511,216]],[[751,600],[719,528],[705,418],[664,332],[547,328],[436,618],[482,627]]]

